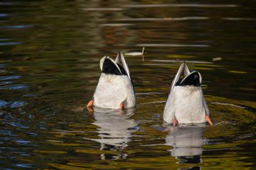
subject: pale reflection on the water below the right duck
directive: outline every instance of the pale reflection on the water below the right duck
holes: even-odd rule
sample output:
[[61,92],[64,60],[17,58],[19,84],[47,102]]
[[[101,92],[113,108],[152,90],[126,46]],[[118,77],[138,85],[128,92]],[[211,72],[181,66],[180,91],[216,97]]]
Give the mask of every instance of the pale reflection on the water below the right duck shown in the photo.
[[203,133],[205,125],[179,125],[168,127],[166,130],[166,145],[171,146],[171,156],[179,159],[181,164],[201,163]]

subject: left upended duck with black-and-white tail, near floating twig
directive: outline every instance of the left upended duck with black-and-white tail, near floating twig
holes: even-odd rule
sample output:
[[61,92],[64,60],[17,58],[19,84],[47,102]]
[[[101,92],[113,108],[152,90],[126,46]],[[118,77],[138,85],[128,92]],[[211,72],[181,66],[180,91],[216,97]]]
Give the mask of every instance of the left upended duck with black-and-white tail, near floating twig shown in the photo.
[[136,105],[134,86],[122,52],[117,53],[115,60],[108,56],[102,57],[100,69],[100,79],[87,108],[97,106],[123,110],[134,107]]

